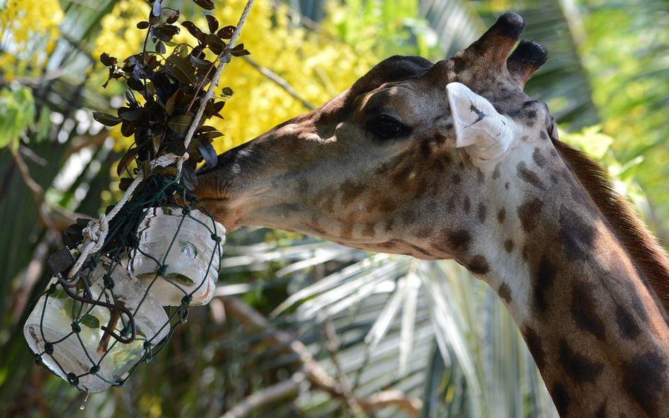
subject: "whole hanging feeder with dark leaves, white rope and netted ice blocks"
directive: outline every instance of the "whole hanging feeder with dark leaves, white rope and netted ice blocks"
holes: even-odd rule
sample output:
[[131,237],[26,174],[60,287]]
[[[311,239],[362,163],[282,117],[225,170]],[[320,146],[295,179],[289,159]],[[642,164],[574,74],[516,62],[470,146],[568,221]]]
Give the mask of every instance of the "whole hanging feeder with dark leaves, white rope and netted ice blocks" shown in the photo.
[[[124,193],[114,207],[100,219],[86,222],[85,228],[73,226],[78,233],[76,251],[64,248],[49,257],[54,277],[23,328],[37,364],[92,393],[122,386],[140,362],[149,362],[167,345],[176,326],[186,323],[190,305],[205,305],[212,299],[225,240],[224,227],[189,190],[194,188],[199,162],[216,164],[211,142],[222,134],[203,124],[220,116],[223,101],[215,99],[214,89],[225,64],[231,56],[248,54],[243,44],[235,43],[253,0],[247,1],[231,33],[219,30],[207,35],[220,39],[190,51],[177,46],[167,58],[159,49],[165,48],[170,34],[179,32],[172,25],[179,11],[170,9],[162,20],[162,0],[149,4],[149,19],[138,28],[149,31],[155,51],[147,51],[145,42],[141,60],[139,54],[123,63],[108,54],[100,56],[109,67],[109,79],[126,80],[131,90],[126,91],[127,102],[118,116],[93,114],[107,126],[121,123],[124,135],[135,133],[135,144],[117,167],[119,176],[124,172],[131,176],[121,178]],[[218,25],[207,16],[208,25],[212,19]],[[217,55],[211,77],[213,67],[203,73],[191,66],[204,58],[205,47]],[[181,73],[175,73],[167,61],[186,62],[186,68],[191,66],[193,75],[203,81],[193,84],[195,78],[181,77],[181,66]],[[147,80],[152,90],[147,89]],[[206,92],[204,80],[210,80]],[[190,102],[181,100],[182,89],[193,90]],[[144,100],[139,102],[133,91],[143,91]],[[166,97],[169,106],[164,104]],[[156,121],[163,118],[167,123],[158,126]],[[132,172],[131,161],[136,164]]]

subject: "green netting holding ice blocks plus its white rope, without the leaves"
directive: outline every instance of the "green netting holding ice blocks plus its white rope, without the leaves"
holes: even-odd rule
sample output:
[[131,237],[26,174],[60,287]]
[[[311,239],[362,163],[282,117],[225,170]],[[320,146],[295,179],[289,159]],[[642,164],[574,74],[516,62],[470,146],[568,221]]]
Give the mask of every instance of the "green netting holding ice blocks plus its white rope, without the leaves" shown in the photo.
[[[184,140],[200,123],[253,0],[244,8],[228,47]],[[90,221],[76,250],[63,250],[55,276],[33,304],[24,334],[35,362],[72,386],[100,392],[123,386],[139,364],[169,343],[191,305],[211,300],[225,230],[181,182],[183,156],[164,154],[150,167],[176,166],[176,174],[143,173],[123,197]]]

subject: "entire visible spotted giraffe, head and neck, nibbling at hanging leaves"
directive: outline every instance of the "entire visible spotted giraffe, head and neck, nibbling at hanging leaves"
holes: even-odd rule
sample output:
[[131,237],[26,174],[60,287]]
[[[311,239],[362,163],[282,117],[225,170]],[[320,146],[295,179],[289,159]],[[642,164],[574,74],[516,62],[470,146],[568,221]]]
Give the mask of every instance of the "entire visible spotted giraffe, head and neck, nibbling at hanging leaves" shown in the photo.
[[229,230],[454,259],[510,311],[561,416],[669,416],[669,263],[523,92],[547,58],[514,49],[523,27],[506,13],[451,59],[382,61],[219,156],[196,193]]

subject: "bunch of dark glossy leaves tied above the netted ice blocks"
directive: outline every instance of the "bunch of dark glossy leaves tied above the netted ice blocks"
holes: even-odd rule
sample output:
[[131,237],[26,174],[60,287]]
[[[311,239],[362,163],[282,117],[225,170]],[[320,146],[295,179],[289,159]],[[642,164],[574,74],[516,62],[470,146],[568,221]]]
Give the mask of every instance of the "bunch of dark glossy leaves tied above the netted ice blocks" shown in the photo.
[[[209,0],[193,1],[206,11],[214,8]],[[204,11],[207,22],[204,30],[188,20],[181,23],[195,37],[198,42],[196,45],[171,42],[181,31],[181,27],[175,24],[179,20],[179,10],[163,7],[162,0],[150,0],[148,3],[151,8],[147,20],[137,23],[138,30],[146,31],[143,51],[128,56],[121,63],[109,54],[100,55],[102,65],[109,68],[109,77],[103,87],[107,87],[112,79],[125,81],[128,87],[126,102],[119,107],[116,116],[95,112],[93,117],[103,125],[121,124],[122,135],[133,137],[133,144],[117,166],[119,176],[128,171],[133,161],[147,176],[174,175],[174,167],[150,170],[149,161],[167,153],[181,156],[188,152],[189,158],[183,166],[181,181],[186,188],[192,190],[196,182],[197,164],[205,161],[205,164],[215,166],[217,163],[212,141],[223,134],[205,123],[214,117],[223,118],[220,112],[226,99],[233,93],[232,90],[226,87],[219,97],[207,100],[203,117],[198,121],[186,149],[183,142],[188,129],[205,99],[207,86],[216,82],[212,77],[217,65],[222,61],[229,61],[231,56],[243,56],[249,52],[244,49],[243,44],[229,46],[234,26],[219,28],[217,18]],[[147,50],[149,39],[152,41],[153,50]],[[129,183],[122,181],[121,189],[125,189]]]

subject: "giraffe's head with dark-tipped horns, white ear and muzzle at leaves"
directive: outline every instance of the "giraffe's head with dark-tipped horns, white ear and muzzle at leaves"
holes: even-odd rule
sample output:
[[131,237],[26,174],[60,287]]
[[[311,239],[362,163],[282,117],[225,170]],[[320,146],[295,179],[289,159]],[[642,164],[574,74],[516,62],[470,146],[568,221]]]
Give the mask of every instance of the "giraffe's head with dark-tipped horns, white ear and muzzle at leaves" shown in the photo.
[[483,221],[504,216],[486,206],[484,185],[505,164],[522,172],[510,155],[555,133],[546,104],[523,92],[545,49],[523,41],[511,53],[523,27],[507,13],[451,59],[382,61],[319,109],[219,156],[196,193],[229,229],[455,258],[476,273],[481,260],[461,253]]

